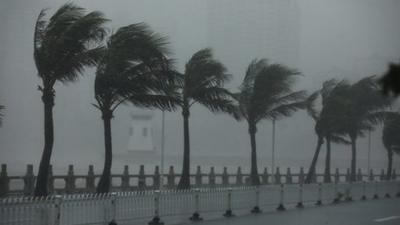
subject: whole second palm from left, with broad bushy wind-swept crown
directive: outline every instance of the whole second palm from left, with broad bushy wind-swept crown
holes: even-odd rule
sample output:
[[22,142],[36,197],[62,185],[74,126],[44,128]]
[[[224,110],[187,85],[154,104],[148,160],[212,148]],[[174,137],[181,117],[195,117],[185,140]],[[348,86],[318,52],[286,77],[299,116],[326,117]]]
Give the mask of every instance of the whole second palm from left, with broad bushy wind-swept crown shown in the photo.
[[171,110],[174,73],[166,58],[166,38],[154,33],[145,23],[122,27],[112,34],[97,66],[94,106],[104,125],[105,162],[97,192],[108,192],[112,166],[111,119],[118,106]]

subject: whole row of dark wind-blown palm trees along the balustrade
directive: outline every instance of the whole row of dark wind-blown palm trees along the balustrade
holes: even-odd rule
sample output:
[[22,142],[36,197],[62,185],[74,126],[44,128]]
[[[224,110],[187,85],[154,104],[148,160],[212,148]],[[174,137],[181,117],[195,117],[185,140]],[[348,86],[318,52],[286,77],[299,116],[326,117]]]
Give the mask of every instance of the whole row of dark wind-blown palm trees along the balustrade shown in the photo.
[[[190,188],[190,108],[198,103],[211,112],[224,112],[237,120],[246,120],[251,144],[251,183],[258,185],[256,132],[261,120],[279,120],[300,109],[308,110],[316,121],[318,146],[323,143],[352,144],[352,175],[355,174],[356,140],[381,121],[376,112],[390,104],[377,92],[375,78],[350,85],[345,81],[328,81],[311,95],[293,91],[299,72],[267,60],[253,60],[247,68],[237,93],[224,85],[231,76],[214,59],[210,49],[196,52],[183,73],[174,68],[168,57],[167,39],[146,24],[137,23],[109,33],[109,21],[99,11],[67,3],[49,19],[46,10],[37,18],[34,33],[34,60],[42,80],[39,90],[44,104],[44,149],[40,161],[35,195],[47,195],[47,181],[54,142],[54,85],[75,82],[88,67],[95,67],[94,96],[104,125],[105,163],[97,192],[108,192],[112,165],[111,121],[122,104],[173,111],[183,117],[183,166],[178,188]],[[322,96],[323,108],[315,109]],[[364,98],[367,95],[368,98]],[[369,104],[365,100],[374,100]],[[350,138],[347,140],[345,137]],[[329,144],[328,144],[329,143]],[[330,152],[330,150],[329,150]],[[330,154],[330,153],[329,153]],[[315,161],[315,162],[314,162]],[[327,165],[329,165],[327,157]],[[310,173],[315,172],[316,160]],[[328,173],[328,172],[327,172]]]

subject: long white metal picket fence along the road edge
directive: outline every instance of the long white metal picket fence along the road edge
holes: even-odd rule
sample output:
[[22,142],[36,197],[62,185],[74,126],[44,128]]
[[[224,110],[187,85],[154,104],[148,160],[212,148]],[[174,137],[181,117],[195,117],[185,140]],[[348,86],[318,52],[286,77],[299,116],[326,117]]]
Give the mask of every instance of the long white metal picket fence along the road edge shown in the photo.
[[[335,201],[389,197],[400,192],[399,181],[80,194],[46,198],[0,199],[1,225],[147,224],[167,223]],[[193,216],[197,214],[197,216]]]

